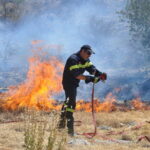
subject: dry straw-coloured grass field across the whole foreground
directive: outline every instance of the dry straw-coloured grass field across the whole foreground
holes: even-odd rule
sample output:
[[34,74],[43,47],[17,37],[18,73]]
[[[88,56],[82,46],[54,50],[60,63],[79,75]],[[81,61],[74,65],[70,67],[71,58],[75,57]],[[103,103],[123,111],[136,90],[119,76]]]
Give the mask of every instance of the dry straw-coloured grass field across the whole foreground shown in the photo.
[[[150,111],[97,113],[96,120],[98,126],[98,135],[96,135],[93,139],[87,139],[81,135],[73,138],[86,140],[88,143],[90,143],[89,145],[67,144],[71,138],[65,135],[66,131],[64,130],[59,132],[56,130],[58,113],[32,113],[30,112],[30,115],[27,115],[24,112],[2,112],[0,114],[0,150],[27,150],[27,145],[32,145],[33,143],[38,147],[39,150],[51,150],[52,148],[59,150],[148,150],[150,148],[150,143],[148,143],[146,140],[136,143],[139,136],[150,136],[150,123],[145,122],[150,121]],[[75,126],[76,133],[93,131],[90,113],[76,112],[74,116],[75,120],[82,121],[81,126]],[[11,120],[21,120],[21,122],[2,123],[4,121]],[[131,128],[141,122],[143,123],[141,128],[137,130],[131,130]],[[102,130],[99,128],[101,126],[108,126],[110,129]],[[27,129],[30,129],[30,131]],[[127,130],[126,134],[109,135],[108,137],[116,140],[131,141],[131,143],[108,143],[108,141],[103,141],[100,136],[108,133],[109,131],[119,132],[123,130]],[[35,141],[31,137],[30,138],[32,140],[28,137],[31,135],[33,135],[32,138],[35,139]]]

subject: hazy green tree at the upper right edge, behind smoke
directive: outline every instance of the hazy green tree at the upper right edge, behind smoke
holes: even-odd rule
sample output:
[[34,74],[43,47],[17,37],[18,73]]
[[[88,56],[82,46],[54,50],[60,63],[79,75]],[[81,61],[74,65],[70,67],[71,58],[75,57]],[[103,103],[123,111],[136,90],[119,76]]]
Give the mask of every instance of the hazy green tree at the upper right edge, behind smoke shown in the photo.
[[142,50],[150,56],[150,0],[127,0],[126,7],[120,12],[129,23],[134,41],[140,41]]

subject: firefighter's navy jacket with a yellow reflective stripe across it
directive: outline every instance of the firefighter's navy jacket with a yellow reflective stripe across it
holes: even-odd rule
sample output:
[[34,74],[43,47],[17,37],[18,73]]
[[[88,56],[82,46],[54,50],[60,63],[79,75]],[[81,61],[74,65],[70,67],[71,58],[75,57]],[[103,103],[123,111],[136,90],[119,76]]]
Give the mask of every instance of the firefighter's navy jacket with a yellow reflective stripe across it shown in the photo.
[[[78,87],[80,80],[76,79],[78,75],[82,75],[85,71],[93,74],[98,71],[90,60],[84,60],[79,52],[71,55],[66,62],[62,84],[64,88]],[[99,71],[98,71],[99,72]],[[100,72],[99,72],[100,73]]]

